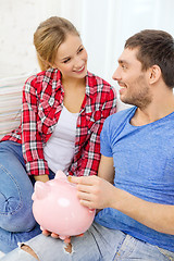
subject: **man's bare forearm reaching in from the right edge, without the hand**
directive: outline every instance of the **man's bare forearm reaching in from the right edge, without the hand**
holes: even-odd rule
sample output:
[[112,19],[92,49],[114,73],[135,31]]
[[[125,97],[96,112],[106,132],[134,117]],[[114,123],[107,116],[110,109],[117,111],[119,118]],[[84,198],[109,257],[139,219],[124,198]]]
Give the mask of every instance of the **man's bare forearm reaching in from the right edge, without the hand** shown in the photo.
[[113,197],[111,208],[154,231],[174,235],[174,206],[148,202],[119,188]]

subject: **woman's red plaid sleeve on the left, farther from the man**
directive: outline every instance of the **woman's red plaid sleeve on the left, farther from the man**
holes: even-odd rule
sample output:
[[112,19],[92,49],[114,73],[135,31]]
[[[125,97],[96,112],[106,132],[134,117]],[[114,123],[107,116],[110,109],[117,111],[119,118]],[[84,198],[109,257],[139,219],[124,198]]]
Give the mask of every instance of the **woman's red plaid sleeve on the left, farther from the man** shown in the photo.
[[38,102],[35,78],[29,78],[23,90],[22,149],[28,175],[49,174],[44,157],[44,142],[37,128]]

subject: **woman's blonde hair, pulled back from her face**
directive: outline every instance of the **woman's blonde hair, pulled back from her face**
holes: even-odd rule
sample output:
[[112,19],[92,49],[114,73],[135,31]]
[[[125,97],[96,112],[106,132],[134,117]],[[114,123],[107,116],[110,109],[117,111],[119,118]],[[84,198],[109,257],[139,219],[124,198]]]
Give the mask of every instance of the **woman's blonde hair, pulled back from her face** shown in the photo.
[[34,45],[41,71],[53,65],[58,48],[65,41],[67,34],[79,36],[69,20],[52,16],[40,23],[34,34]]

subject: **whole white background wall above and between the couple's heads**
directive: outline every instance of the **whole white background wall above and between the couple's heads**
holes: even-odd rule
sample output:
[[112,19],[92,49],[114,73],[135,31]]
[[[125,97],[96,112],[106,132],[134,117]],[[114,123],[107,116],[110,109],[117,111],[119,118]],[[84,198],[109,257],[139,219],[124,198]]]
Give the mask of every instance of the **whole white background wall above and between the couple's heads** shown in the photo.
[[144,28],[174,36],[173,10],[173,0],[0,0],[0,78],[38,69],[33,34],[41,21],[59,15],[80,32],[89,71],[114,84],[126,38]]

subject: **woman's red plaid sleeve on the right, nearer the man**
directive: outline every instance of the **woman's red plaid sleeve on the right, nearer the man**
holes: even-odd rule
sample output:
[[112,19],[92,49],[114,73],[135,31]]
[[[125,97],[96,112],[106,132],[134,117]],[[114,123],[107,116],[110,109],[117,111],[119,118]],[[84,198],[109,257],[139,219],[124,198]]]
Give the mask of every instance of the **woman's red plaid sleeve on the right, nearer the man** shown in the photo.
[[115,89],[109,84],[99,89],[100,87],[98,87],[95,99],[90,99],[90,105],[86,104],[85,113],[82,113],[77,122],[76,151],[69,172],[71,175],[88,176],[97,175],[98,172],[101,157],[100,133],[103,122],[116,112]]

